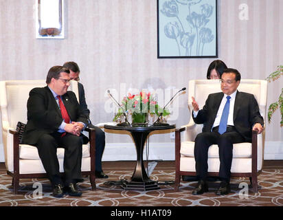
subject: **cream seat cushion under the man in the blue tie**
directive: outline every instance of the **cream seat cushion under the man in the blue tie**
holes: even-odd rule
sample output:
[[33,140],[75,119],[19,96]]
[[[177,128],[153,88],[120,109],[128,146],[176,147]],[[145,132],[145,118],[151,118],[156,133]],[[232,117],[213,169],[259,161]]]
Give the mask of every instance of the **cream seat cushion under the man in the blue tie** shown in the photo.
[[[218,158],[218,145],[213,144],[208,149],[209,158]],[[185,157],[194,157],[194,142],[181,142],[181,155]],[[233,144],[233,157],[234,158],[251,158],[251,143],[244,142]]]

